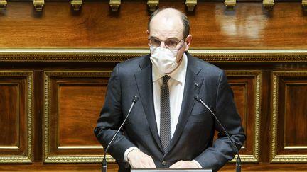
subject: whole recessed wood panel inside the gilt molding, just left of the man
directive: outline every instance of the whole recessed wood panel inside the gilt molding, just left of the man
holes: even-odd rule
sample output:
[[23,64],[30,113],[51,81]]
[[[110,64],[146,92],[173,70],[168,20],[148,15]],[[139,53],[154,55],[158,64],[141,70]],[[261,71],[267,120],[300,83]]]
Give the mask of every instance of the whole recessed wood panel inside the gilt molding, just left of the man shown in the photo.
[[51,156],[102,154],[93,130],[104,104],[109,77],[94,77],[82,71],[63,74],[50,76],[50,129],[45,132],[50,134],[48,153]]

